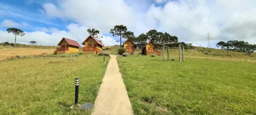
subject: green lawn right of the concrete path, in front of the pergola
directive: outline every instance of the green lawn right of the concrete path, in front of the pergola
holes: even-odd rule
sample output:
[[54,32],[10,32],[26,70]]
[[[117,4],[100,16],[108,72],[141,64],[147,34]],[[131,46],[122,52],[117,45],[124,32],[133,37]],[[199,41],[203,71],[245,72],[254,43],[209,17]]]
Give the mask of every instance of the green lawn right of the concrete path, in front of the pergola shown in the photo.
[[117,59],[134,114],[256,114],[256,63]]

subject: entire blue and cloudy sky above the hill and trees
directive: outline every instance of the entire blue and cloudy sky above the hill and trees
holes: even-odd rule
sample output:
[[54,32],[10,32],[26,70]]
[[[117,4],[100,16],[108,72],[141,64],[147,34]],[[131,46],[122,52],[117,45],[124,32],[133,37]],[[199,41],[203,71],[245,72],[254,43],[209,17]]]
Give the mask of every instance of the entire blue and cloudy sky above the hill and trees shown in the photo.
[[82,43],[87,29],[100,31],[106,46],[118,45],[109,31],[123,24],[135,36],[150,29],[179,42],[211,47],[228,40],[256,44],[255,0],[0,0],[0,42],[14,42],[8,27],[22,29],[17,43],[57,45],[61,38]]

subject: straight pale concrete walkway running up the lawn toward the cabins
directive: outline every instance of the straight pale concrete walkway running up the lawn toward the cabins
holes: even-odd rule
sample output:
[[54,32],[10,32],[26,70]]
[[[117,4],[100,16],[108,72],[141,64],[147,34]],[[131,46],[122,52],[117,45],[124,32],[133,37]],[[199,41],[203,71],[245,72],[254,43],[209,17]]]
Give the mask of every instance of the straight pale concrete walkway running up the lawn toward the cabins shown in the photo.
[[119,72],[116,56],[110,56],[92,114],[132,114],[132,107]]

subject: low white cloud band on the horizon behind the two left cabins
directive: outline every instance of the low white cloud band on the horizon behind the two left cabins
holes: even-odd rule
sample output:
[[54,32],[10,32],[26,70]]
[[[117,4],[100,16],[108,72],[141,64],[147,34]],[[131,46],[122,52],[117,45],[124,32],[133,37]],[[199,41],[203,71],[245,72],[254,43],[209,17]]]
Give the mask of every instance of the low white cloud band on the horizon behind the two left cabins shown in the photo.
[[[36,41],[40,45],[57,45],[61,38],[70,38],[72,40],[77,40],[81,44],[89,34],[84,31],[87,30],[85,26],[79,26],[78,24],[69,24],[67,26],[68,31],[60,31],[56,28],[45,28],[45,27],[36,27],[34,32],[26,32],[25,36],[18,36],[17,43],[29,43],[30,41]],[[51,34],[49,34],[51,33]],[[13,34],[7,33],[6,31],[0,31],[0,42],[13,42]],[[109,36],[102,36],[100,38],[104,45],[110,46],[115,45],[116,41]]]

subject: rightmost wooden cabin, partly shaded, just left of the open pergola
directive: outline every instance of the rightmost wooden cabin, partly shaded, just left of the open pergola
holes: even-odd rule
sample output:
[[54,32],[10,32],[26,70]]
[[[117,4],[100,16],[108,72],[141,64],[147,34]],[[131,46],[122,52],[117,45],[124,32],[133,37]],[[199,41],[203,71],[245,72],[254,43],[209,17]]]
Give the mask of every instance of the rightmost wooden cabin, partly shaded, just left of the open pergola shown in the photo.
[[142,49],[142,54],[144,54],[144,55],[157,54],[160,56],[161,52],[159,52],[157,50],[156,44],[150,41],[147,43],[146,47],[144,47],[144,49]]

